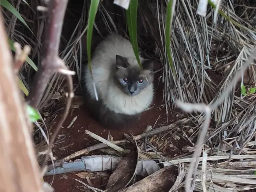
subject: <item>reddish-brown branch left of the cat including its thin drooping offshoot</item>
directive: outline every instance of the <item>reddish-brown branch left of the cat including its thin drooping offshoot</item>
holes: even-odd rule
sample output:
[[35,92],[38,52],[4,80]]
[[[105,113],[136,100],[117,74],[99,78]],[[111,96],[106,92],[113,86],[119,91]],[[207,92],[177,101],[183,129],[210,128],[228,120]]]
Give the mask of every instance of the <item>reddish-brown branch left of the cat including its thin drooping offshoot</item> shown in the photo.
[[38,67],[38,72],[33,80],[31,93],[28,97],[28,104],[33,108],[37,108],[42,95],[44,94],[45,88],[48,84],[50,76],[54,73],[59,72],[67,76],[68,82],[68,101],[66,103],[66,108],[64,110],[63,116],[59,121],[55,132],[53,133],[52,139],[49,142],[48,149],[46,151],[46,156],[44,162],[42,163],[42,169],[44,168],[48,158],[49,153],[52,148],[54,139],[56,138],[61,125],[65,121],[68,115],[68,111],[71,104],[71,99],[74,96],[73,93],[73,83],[71,75],[74,75],[65,66],[64,62],[59,58],[59,44],[61,31],[63,26],[64,15],[66,11],[68,0],[50,0],[48,5],[48,20],[46,23],[44,45],[42,52],[42,63]]

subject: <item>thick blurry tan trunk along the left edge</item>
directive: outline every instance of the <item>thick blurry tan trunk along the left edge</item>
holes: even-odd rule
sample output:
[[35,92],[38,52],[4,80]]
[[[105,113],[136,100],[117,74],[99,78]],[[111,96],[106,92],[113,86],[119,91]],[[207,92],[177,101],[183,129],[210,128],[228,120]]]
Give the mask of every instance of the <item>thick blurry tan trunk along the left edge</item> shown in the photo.
[[0,191],[43,192],[31,123],[18,88],[1,13],[0,38]]

